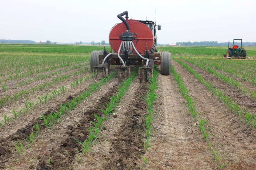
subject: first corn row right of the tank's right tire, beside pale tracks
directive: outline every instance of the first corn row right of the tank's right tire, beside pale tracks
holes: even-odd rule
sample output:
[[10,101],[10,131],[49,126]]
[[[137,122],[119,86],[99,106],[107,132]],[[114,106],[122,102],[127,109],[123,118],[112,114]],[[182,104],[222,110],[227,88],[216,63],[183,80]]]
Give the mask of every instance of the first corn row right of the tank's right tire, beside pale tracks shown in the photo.
[[[209,133],[206,132],[206,130],[208,128],[210,128],[209,126],[206,127],[206,124],[208,124],[208,121],[206,121],[205,119],[202,119],[200,116],[198,116],[196,108],[194,107],[195,101],[189,95],[189,90],[187,89],[186,85],[182,81],[181,76],[175,71],[174,66],[172,64],[171,64],[171,73],[174,75],[174,78],[177,81],[181,95],[185,98],[185,103],[186,103],[187,108],[189,109],[189,112],[192,114],[194,120],[198,121],[197,126],[198,126],[199,130],[201,131],[201,135],[203,136],[204,140],[209,143],[210,151],[213,153],[215,162],[217,163],[217,165],[219,165],[221,158],[223,158],[223,157],[220,156],[220,153],[214,151],[214,149],[212,147],[212,143],[209,141],[209,138],[208,138]],[[219,168],[222,166],[224,166],[224,165],[220,165]]]

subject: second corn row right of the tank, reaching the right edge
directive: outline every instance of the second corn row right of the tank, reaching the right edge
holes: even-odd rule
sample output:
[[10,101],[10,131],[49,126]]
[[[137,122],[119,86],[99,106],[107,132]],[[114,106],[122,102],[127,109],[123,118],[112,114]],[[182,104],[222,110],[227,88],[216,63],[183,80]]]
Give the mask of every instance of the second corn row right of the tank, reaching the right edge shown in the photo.
[[212,85],[208,82],[206,82],[201,75],[199,75],[195,70],[190,68],[187,64],[184,64],[182,61],[177,60],[176,58],[173,58],[177,63],[179,63],[182,67],[187,69],[191,74],[194,75],[196,79],[200,81],[200,83],[204,84],[209,91],[212,91],[212,93],[219,98],[220,101],[226,104],[226,106],[230,109],[231,112],[233,112],[236,115],[239,115],[239,117],[243,118],[245,120],[245,124],[249,126],[250,128],[254,129],[256,125],[256,114],[252,114],[249,112],[246,112],[247,109],[242,109],[241,106],[238,104],[234,104],[233,101],[223,94],[221,90],[218,89],[218,87],[213,88]]

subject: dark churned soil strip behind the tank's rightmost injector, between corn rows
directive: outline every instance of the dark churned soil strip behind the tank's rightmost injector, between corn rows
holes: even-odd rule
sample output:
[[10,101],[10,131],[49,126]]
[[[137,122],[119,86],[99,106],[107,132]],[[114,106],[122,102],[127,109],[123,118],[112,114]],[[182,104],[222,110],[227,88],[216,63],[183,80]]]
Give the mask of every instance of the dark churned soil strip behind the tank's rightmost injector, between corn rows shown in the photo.
[[127,100],[130,104],[123,114],[124,121],[118,131],[113,133],[115,138],[110,141],[110,151],[104,155],[106,160],[101,169],[139,169],[136,160],[140,159],[138,155],[145,154],[145,148],[140,144],[145,139],[143,117],[147,112],[147,105],[141,95],[145,96],[147,91],[146,83],[141,84]]

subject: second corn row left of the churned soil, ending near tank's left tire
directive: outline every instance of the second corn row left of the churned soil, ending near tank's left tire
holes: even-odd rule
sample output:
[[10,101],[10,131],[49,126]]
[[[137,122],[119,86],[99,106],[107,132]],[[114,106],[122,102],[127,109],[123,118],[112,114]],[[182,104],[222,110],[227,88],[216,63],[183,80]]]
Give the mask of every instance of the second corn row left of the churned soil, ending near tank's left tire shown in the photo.
[[[79,73],[75,72],[74,76],[77,75],[77,74],[82,74],[82,73],[84,73],[88,70],[89,70],[89,68],[83,69]],[[92,74],[86,76],[85,78],[80,77],[79,78],[79,83],[76,83],[76,86],[78,86],[78,84],[82,83],[82,81],[86,81],[91,77],[92,77]],[[36,85],[34,87],[31,87],[31,89],[29,89],[29,90],[22,90],[20,92],[16,92],[12,96],[11,95],[5,95],[4,97],[0,98],[0,107],[3,107],[4,105],[8,104],[9,101],[21,100],[22,98],[26,98],[29,94],[34,94],[34,93],[36,93],[36,91],[46,90],[48,87],[52,86],[52,84],[59,84],[60,82],[63,82],[63,81],[68,80],[70,78],[71,78],[70,74],[61,75],[60,77],[53,78],[52,81],[46,81],[46,82],[44,82],[44,84],[39,84],[39,85]],[[73,86],[71,86],[71,87],[73,87]]]

